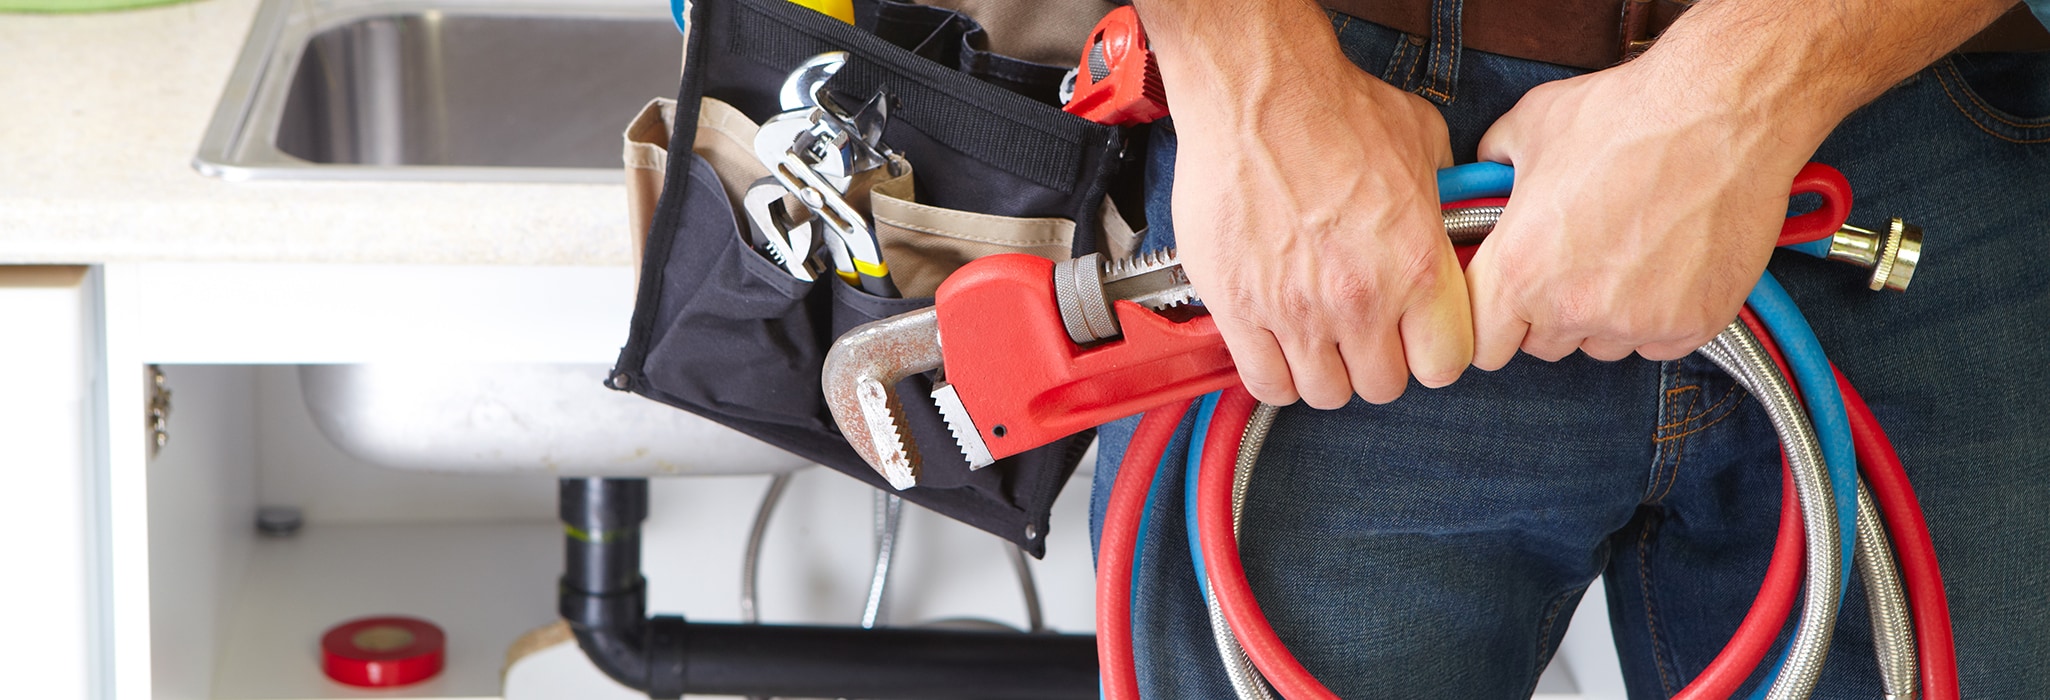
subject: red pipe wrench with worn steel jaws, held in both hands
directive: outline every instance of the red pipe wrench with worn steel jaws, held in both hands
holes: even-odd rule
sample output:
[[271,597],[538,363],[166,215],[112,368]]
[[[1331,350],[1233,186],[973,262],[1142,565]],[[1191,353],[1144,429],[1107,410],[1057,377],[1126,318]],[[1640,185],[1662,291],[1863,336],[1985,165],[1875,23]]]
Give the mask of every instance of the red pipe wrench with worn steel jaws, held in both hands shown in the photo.
[[[1794,191],[1824,203],[1790,218],[1781,242],[1845,230],[1851,189],[1841,172],[1810,164]],[[1501,205],[1447,207],[1453,244],[1486,236]],[[898,382],[941,370],[931,400],[970,468],[984,468],[1238,382],[1216,322],[1189,302],[1195,289],[1173,250],[1130,261],[984,257],[949,275],[933,308],[843,335],[826,353],[826,406],[869,466],[910,489],[920,445],[908,441]]]

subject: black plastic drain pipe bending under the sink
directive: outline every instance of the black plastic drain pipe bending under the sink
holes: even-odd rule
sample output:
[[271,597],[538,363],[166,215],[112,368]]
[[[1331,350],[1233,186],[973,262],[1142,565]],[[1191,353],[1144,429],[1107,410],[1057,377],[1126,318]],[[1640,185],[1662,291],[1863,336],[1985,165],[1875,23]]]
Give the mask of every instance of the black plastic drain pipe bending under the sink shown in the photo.
[[560,610],[584,655],[650,698],[1095,700],[1089,634],[648,618],[644,478],[564,478]]

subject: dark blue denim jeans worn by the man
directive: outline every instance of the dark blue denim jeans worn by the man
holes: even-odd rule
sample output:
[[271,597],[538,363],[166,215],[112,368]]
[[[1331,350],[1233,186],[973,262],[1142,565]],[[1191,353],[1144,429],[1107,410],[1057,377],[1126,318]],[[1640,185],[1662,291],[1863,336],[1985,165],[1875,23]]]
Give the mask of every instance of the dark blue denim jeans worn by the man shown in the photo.
[[[1343,14],[1332,27],[1361,70],[1441,107],[1460,162],[1525,90],[1576,74]],[[1906,462],[1966,698],[2050,698],[2046,115],[2050,55],[1937,62],[1814,156],[1849,177],[1853,224],[1927,228],[1911,291],[1865,291],[1863,269],[1798,252],[1771,263]],[[1175,138],[1156,133],[1146,246],[1168,246]],[[1132,427],[1103,429],[1097,532]],[[1181,482],[1166,470],[1148,511],[1140,682],[1148,698],[1230,698],[1179,528]],[[1283,409],[1240,546],[1275,630],[1339,696],[1527,698],[1605,575],[1630,694],[1667,698],[1736,630],[1777,513],[1777,437],[1706,359],[1519,355],[1386,406]],[[1880,696],[1863,608],[1853,583],[1816,698]]]

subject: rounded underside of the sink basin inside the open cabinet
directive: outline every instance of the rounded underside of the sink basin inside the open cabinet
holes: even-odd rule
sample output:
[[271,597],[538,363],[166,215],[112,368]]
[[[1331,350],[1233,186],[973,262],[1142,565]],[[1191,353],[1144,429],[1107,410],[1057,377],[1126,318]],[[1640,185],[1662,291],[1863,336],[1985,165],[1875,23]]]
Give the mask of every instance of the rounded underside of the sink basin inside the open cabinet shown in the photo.
[[314,425],[351,456],[402,470],[535,476],[771,474],[804,458],[695,415],[609,390],[605,365],[301,365]]

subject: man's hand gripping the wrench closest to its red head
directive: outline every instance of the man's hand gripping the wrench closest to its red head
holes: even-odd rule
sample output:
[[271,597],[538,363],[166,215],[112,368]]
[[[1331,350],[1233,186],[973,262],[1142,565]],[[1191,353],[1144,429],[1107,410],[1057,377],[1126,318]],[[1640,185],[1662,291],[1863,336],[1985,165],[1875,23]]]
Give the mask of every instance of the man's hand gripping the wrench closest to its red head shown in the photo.
[[1246,390],[1337,409],[1394,400],[1412,374],[1451,384],[1472,320],[1437,209],[1443,117],[1353,68],[1310,2],[1173,25],[1220,8],[1140,4],[1181,140],[1181,263]]

